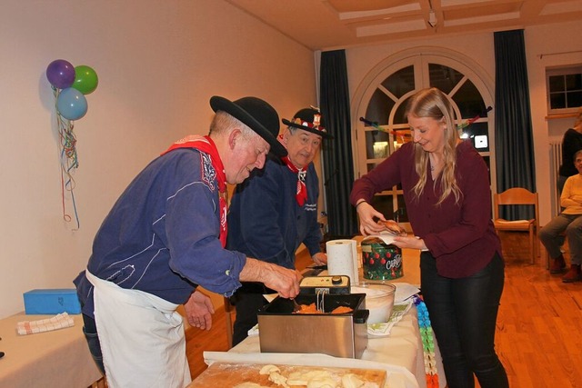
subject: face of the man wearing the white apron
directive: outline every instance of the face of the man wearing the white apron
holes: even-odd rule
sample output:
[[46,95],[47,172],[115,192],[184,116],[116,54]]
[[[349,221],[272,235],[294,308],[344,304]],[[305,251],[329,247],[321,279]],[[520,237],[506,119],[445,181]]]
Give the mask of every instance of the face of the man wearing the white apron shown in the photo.
[[240,184],[255,168],[263,168],[270,145],[258,134],[245,138],[238,134],[233,144],[232,157],[225,164],[226,182]]

